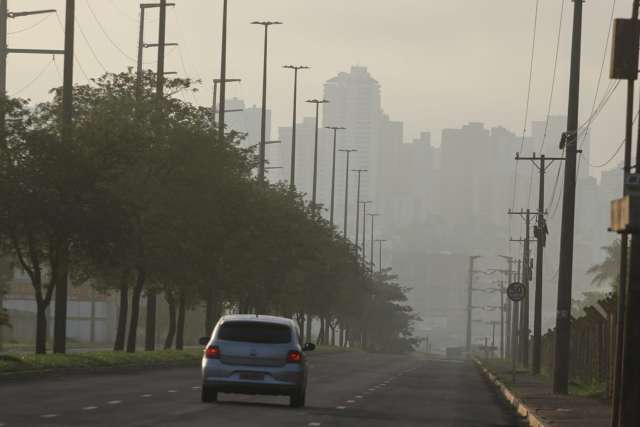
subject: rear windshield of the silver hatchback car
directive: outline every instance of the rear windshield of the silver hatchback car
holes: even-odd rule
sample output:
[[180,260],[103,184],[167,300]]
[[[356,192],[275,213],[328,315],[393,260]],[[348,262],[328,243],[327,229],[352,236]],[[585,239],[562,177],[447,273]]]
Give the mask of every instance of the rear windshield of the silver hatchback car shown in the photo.
[[267,322],[225,322],[220,326],[218,339],[260,344],[291,342],[291,328]]

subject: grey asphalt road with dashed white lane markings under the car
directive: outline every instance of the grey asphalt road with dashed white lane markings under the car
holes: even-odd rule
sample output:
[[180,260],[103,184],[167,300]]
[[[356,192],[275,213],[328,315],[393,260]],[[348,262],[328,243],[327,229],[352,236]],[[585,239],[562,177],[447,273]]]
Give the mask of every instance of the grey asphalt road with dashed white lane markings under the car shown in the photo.
[[0,427],[519,426],[471,363],[366,353],[309,363],[303,409],[269,396],[200,403],[194,367],[0,384]]

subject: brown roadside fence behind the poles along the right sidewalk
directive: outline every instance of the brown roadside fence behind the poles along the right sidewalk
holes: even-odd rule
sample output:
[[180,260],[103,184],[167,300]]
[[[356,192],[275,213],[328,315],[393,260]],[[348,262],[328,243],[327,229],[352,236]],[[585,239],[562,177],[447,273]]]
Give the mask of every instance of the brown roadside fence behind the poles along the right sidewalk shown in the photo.
[[[584,308],[585,315],[571,319],[570,381],[604,384],[610,396],[615,363],[616,300],[609,297]],[[553,372],[555,331],[542,337],[542,367]]]

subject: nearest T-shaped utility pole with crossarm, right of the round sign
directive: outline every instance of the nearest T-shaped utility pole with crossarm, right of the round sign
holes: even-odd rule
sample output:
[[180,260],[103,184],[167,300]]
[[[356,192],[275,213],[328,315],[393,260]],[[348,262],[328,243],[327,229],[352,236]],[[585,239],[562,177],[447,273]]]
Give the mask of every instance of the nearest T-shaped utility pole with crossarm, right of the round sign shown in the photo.
[[[540,157],[533,153],[533,157],[520,157],[516,154],[516,160],[528,160],[538,169],[540,173],[540,186],[538,190],[538,212],[537,225],[534,227],[534,236],[536,237],[536,293],[533,315],[533,364],[531,372],[533,375],[540,374],[540,364],[542,358],[542,279],[544,266],[544,247],[547,243],[547,235],[549,230],[545,220],[544,208],[544,190],[545,190],[545,174],[547,169],[555,161],[563,161],[564,157],[547,157],[541,154]],[[540,163],[538,165],[538,162]],[[549,162],[549,163],[547,163]]]

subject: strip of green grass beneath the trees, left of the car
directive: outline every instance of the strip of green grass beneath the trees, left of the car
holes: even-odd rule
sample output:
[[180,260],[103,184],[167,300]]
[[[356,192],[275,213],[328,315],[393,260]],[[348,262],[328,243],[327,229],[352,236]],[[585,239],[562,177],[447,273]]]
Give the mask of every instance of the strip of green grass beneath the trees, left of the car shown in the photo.
[[67,369],[197,365],[201,357],[202,350],[5,355],[0,356],[0,374]]

